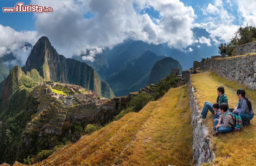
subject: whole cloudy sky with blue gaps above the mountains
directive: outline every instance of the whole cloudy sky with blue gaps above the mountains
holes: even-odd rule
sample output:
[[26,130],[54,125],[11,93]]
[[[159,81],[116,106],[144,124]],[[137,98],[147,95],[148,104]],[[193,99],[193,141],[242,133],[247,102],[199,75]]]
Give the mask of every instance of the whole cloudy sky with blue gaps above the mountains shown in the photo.
[[[256,26],[254,0],[2,0],[0,6],[14,7],[17,2],[51,6],[54,11],[1,11],[0,56],[24,41],[33,45],[42,35],[66,57],[91,50],[89,60],[127,38],[186,51],[195,44],[228,42],[246,23]],[[194,27],[206,29],[210,38],[195,38]]]

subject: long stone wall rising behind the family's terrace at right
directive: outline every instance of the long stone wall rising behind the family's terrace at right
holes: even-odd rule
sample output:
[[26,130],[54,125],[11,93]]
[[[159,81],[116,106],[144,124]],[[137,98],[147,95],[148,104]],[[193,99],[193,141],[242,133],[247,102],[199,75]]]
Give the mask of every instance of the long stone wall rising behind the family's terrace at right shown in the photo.
[[218,75],[256,89],[256,55],[232,58],[207,58],[201,63],[203,70],[214,70]]

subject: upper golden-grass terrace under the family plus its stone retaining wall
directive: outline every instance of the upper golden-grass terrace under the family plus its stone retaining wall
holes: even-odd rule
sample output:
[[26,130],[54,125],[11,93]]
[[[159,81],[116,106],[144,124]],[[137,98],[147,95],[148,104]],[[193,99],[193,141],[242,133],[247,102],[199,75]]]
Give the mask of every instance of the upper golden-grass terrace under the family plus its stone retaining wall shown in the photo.
[[219,86],[224,87],[231,108],[238,103],[236,90],[243,88],[251,98],[252,107],[255,109],[255,90],[246,89],[234,81],[227,81],[213,72],[191,74],[190,80],[188,88],[194,127],[193,157],[195,164],[201,165],[204,162],[210,162],[210,165],[255,165],[256,127],[254,119],[251,120],[249,126],[242,127],[240,132],[220,134],[218,137],[212,136],[214,132],[213,115],[210,112],[207,114],[206,123],[197,123],[199,121],[197,110],[202,110],[205,101],[216,102]]

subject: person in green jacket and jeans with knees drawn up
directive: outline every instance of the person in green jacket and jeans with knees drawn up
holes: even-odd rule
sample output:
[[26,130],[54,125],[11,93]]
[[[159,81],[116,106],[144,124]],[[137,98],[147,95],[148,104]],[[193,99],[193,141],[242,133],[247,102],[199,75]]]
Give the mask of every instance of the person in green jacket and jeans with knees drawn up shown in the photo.
[[[217,88],[217,94],[218,94],[217,103],[219,103],[219,104],[227,103],[228,104],[228,97],[226,96],[223,87],[218,87]],[[210,112],[212,112],[212,114],[214,114],[212,104],[210,102],[206,101],[204,103],[204,107],[203,107],[203,110],[201,112],[201,115],[197,116],[198,118],[202,118],[200,121],[198,121],[198,123],[203,123],[204,122],[204,120],[206,118],[206,115],[208,113],[208,110],[210,110]]]

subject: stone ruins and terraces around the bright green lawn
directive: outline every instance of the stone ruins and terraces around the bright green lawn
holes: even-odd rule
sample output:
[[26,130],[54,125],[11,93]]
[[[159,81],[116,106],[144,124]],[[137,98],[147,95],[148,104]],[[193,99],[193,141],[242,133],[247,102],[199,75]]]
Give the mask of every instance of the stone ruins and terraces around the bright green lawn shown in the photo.
[[65,121],[93,117],[107,101],[91,90],[71,84],[38,83],[32,94],[39,104],[27,128],[44,128],[54,134],[61,134]]

